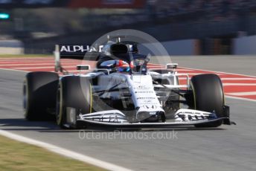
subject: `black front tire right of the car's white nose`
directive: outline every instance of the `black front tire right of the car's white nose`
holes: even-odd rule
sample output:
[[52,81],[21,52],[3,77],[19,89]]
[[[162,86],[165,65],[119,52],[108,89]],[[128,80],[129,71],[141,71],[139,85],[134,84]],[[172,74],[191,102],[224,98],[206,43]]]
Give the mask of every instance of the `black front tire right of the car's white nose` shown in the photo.
[[[223,84],[216,74],[200,74],[191,78],[193,90],[193,108],[205,112],[215,112],[217,117],[223,116],[225,105]],[[196,127],[217,127],[223,123],[218,120],[213,123],[196,124]]]

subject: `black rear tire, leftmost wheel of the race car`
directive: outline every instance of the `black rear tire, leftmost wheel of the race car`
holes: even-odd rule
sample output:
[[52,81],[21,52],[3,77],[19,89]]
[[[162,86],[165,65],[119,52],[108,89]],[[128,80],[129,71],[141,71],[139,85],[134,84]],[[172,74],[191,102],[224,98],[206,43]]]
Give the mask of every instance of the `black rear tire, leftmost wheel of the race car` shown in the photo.
[[[51,120],[59,76],[53,72],[31,72],[23,84],[23,109],[27,120]],[[52,111],[51,111],[52,110]]]

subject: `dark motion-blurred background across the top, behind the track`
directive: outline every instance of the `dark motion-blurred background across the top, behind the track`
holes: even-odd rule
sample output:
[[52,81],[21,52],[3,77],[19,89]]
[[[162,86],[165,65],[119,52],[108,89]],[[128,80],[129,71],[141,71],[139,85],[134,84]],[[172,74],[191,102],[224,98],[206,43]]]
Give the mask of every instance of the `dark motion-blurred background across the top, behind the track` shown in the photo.
[[0,0],[0,54],[51,54],[136,29],[170,55],[256,54],[255,0]]

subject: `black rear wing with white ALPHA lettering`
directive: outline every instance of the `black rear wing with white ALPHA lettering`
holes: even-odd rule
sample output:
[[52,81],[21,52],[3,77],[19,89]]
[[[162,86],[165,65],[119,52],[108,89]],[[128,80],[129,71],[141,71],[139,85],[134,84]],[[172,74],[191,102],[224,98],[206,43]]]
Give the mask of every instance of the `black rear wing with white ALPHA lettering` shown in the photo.
[[81,59],[96,61],[99,57],[100,51],[101,46],[94,48],[90,45],[55,45],[55,71],[63,72],[60,59]]

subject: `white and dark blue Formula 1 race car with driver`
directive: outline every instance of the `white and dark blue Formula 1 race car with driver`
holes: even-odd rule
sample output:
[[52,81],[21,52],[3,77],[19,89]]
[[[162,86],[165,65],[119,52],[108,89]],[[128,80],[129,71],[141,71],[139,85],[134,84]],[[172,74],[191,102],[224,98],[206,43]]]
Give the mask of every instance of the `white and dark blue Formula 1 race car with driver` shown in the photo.
[[[139,54],[137,45],[121,42],[120,38],[107,42],[97,53],[83,50],[83,45],[56,45],[56,72],[26,75],[23,106],[27,120],[54,117],[63,129],[90,124],[119,128],[217,127],[232,123],[216,74],[199,74],[190,80],[188,74],[177,74],[177,64],[150,69],[150,57]],[[98,61],[97,68],[77,65],[77,70],[86,70],[79,74],[68,73],[60,64],[61,58],[93,57]],[[181,76],[186,77],[186,85],[179,85]]]

